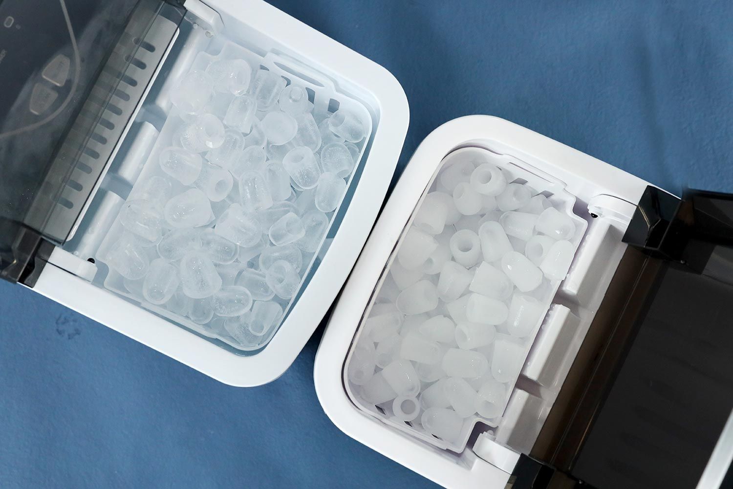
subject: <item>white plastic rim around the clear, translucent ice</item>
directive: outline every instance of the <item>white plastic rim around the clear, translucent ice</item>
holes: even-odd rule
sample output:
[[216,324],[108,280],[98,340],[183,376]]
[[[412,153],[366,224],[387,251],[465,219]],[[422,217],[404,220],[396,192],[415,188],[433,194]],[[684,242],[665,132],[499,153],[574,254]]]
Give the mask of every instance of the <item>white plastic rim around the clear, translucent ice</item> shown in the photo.
[[[377,111],[364,172],[339,231],[301,298],[268,346],[240,356],[101,290],[54,266],[45,267],[33,290],[81,312],[183,364],[232,386],[258,386],[290,367],[342,287],[383,202],[407,132],[405,92],[380,65],[336,43],[261,0],[212,0],[229,38],[269,43],[307,59],[315,70],[336,78],[350,92],[369,98]],[[232,24],[236,23],[236,27]],[[241,25],[240,25],[241,23]]]

